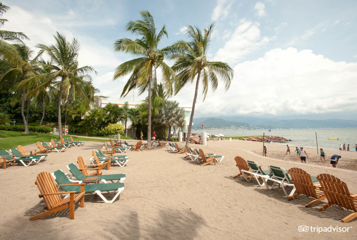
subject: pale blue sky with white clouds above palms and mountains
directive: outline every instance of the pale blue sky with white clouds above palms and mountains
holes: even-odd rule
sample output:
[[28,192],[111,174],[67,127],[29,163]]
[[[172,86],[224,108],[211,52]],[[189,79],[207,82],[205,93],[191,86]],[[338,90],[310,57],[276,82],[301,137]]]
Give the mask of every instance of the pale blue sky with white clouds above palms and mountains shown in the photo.
[[[131,59],[114,53],[116,39],[139,10],[149,10],[169,39],[185,39],[185,26],[205,28],[216,21],[208,58],[228,62],[235,70],[231,88],[223,84],[202,103],[195,117],[252,116],[272,118],[356,119],[356,1],[3,1],[10,6],[3,29],[22,31],[34,47],[53,43],[56,31],[79,39],[79,61],[92,65],[101,95],[112,102],[132,101],[119,95],[126,79],[112,82],[114,68]],[[201,90],[201,89],[200,89]],[[172,99],[191,107],[194,86]],[[144,99],[146,94],[137,96]]]

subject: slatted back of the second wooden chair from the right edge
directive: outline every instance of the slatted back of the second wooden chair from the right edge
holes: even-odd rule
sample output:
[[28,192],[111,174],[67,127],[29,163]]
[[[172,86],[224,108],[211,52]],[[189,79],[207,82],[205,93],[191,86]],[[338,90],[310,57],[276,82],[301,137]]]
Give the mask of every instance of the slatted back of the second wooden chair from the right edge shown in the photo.
[[316,187],[313,186],[311,175],[308,172],[297,167],[290,168],[288,172],[297,193],[318,199]]

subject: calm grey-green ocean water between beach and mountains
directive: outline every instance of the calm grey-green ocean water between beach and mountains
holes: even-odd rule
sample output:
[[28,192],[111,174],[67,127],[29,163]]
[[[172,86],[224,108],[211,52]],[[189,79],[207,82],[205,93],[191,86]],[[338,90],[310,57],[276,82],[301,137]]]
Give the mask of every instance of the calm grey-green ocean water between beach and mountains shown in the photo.
[[[192,131],[193,133],[201,133],[201,131]],[[312,147],[316,148],[316,136],[318,148],[338,150],[340,143],[350,145],[350,151],[355,151],[355,144],[357,143],[357,128],[317,128],[317,129],[272,129],[268,132],[268,129],[262,130],[231,130],[231,131],[206,131],[212,135],[223,134],[225,137],[239,137],[239,136],[257,136],[257,135],[272,135],[285,137],[293,141],[306,140],[300,142],[291,142],[291,146]],[[331,137],[337,137],[336,139],[327,139]],[[284,144],[284,143],[281,143]],[[286,145],[286,143],[285,143]]]

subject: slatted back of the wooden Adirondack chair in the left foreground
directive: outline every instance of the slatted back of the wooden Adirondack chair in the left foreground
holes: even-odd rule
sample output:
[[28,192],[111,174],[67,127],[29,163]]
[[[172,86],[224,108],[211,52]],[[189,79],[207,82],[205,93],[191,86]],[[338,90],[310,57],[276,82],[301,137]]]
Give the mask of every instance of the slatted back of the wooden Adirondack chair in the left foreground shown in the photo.
[[[37,175],[36,185],[39,188],[41,194],[56,193],[59,192],[56,187],[56,182],[48,172],[41,172]],[[43,196],[48,209],[52,209],[59,201],[61,197],[59,194]]]

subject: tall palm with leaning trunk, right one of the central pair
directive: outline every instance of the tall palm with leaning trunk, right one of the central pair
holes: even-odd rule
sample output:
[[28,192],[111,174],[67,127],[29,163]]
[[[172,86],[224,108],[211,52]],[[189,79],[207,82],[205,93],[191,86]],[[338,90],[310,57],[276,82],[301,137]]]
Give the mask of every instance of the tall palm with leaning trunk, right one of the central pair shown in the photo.
[[175,60],[172,69],[177,73],[179,79],[175,85],[175,94],[187,83],[192,83],[197,75],[186,146],[188,146],[190,142],[193,114],[195,113],[195,104],[201,75],[203,84],[202,94],[204,95],[203,101],[205,101],[207,95],[208,85],[211,85],[214,92],[218,87],[218,78],[220,78],[225,83],[225,90],[227,91],[231,85],[231,79],[233,78],[233,69],[227,63],[210,62],[206,58],[213,27],[214,23],[210,24],[208,29],[205,28],[202,34],[199,28],[193,28],[191,25],[188,25],[186,35],[189,41],[180,40],[174,45],[163,49],[165,55]]

